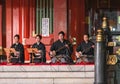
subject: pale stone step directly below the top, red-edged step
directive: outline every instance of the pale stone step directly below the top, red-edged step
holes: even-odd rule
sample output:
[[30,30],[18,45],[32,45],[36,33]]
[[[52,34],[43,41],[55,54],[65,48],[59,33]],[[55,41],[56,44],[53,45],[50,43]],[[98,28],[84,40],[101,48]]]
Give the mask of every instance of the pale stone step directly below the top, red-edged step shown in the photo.
[[94,72],[0,72],[0,78],[94,78]]

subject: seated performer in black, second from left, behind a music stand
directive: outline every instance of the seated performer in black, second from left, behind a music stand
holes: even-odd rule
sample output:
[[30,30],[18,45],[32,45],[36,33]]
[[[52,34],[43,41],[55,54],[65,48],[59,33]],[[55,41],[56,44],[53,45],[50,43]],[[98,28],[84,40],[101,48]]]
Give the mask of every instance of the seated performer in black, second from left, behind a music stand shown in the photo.
[[[36,36],[36,43],[32,45],[32,48],[37,48],[38,51],[34,53],[34,63],[46,63],[46,49],[45,45],[41,42],[42,36],[37,35]],[[32,62],[32,59],[31,61]]]

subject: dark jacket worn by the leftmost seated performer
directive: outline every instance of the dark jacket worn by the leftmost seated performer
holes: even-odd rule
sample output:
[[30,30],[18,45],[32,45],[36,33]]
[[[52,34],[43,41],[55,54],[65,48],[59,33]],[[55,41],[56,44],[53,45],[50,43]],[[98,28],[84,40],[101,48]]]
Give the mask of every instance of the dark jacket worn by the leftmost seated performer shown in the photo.
[[[14,43],[11,48],[14,48],[16,51],[20,52],[20,58],[18,59],[21,63],[24,63],[24,47],[23,44],[21,43]],[[14,54],[12,54],[12,56],[14,56]]]

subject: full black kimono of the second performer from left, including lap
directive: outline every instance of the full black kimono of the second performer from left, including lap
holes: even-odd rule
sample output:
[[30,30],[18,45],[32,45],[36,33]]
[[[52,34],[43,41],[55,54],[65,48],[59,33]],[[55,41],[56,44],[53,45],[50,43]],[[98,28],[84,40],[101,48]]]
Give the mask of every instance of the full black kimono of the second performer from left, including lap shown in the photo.
[[[45,45],[40,42],[39,44],[37,43],[34,43],[32,45],[32,48],[37,48],[38,50],[41,50],[42,51],[42,57],[41,59],[34,59],[34,62],[43,62],[43,63],[46,63],[46,48],[45,48]],[[35,56],[35,54],[34,54]]]

